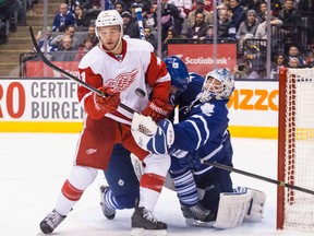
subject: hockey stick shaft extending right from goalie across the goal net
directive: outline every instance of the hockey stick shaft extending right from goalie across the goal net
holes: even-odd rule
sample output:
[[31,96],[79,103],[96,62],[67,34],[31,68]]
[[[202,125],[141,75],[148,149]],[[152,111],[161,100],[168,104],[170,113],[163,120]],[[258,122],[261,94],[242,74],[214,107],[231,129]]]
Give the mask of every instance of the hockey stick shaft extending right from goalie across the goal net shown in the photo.
[[208,165],[208,166],[214,166],[214,167],[219,168],[219,169],[233,172],[233,173],[237,173],[237,174],[240,174],[240,175],[244,175],[244,176],[249,176],[249,177],[256,178],[256,179],[259,179],[259,180],[264,180],[264,181],[267,181],[267,182],[271,182],[271,184],[275,184],[277,186],[282,186],[285,188],[290,188],[290,189],[294,189],[294,190],[298,190],[298,191],[306,192],[309,194],[314,194],[313,190],[305,189],[305,188],[302,188],[302,187],[299,187],[299,186],[289,185],[289,184],[287,184],[285,181],[279,181],[279,180],[276,180],[276,179],[267,178],[267,177],[259,176],[259,175],[256,175],[256,174],[253,174],[253,173],[247,173],[247,172],[244,172],[244,170],[241,170],[241,169],[237,169],[237,168],[233,168],[233,167],[230,167],[230,166],[227,166],[227,165],[222,165],[222,164],[219,164],[219,163],[214,163],[214,162],[209,162],[209,161],[205,161],[205,160],[201,160],[201,163],[203,163],[205,165]]

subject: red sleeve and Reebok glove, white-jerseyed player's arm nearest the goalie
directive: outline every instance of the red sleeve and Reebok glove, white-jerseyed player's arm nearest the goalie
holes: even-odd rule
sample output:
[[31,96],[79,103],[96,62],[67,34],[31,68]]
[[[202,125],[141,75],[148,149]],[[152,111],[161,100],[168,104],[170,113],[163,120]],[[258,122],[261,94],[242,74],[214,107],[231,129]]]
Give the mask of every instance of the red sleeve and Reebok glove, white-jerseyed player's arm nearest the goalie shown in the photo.
[[150,63],[146,71],[146,82],[153,90],[153,96],[142,114],[150,116],[155,121],[159,121],[173,110],[173,106],[168,104],[171,85],[170,75],[165,62],[157,58],[154,52],[150,52]]

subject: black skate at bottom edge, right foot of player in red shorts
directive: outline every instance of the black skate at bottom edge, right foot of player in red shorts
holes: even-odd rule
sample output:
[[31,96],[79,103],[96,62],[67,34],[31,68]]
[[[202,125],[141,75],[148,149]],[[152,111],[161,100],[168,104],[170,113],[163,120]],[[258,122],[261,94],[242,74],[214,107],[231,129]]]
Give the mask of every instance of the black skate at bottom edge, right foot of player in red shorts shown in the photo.
[[145,208],[135,208],[131,217],[132,232],[131,236],[166,236],[167,224],[155,219],[152,212]]

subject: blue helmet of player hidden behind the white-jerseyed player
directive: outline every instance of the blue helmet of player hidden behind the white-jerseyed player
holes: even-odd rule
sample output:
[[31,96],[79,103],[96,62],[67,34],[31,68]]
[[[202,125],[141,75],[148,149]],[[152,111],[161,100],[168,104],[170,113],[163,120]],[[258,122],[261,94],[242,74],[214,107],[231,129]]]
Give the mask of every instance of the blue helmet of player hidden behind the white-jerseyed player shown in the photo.
[[167,70],[171,76],[171,84],[178,88],[176,96],[182,93],[189,83],[189,72],[184,62],[176,57],[170,56],[164,59]]

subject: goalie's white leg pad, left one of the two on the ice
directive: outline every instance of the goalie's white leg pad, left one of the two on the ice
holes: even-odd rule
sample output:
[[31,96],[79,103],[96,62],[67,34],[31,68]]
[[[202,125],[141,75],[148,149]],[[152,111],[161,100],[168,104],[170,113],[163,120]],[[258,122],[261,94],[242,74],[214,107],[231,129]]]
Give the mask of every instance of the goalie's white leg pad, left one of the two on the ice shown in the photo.
[[217,219],[214,224],[216,228],[232,228],[242,224],[247,212],[250,193],[221,192]]

